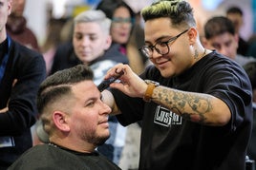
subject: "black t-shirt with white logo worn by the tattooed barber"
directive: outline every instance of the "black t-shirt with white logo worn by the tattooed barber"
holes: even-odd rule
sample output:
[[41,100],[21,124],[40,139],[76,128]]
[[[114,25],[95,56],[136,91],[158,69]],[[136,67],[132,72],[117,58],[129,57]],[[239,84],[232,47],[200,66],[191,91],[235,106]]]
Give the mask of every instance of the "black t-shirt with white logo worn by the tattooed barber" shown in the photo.
[[162,107],[130,98],[112,89],[123,125],[142,120],[139,169],[242,170],[251,132],[251,86],[245,70],[220,54],[211,52],[174,78],[163,78],[149,66],[142,79],[160,85],[200,92],[220,98],[231,111],[224,126],[192,123]]

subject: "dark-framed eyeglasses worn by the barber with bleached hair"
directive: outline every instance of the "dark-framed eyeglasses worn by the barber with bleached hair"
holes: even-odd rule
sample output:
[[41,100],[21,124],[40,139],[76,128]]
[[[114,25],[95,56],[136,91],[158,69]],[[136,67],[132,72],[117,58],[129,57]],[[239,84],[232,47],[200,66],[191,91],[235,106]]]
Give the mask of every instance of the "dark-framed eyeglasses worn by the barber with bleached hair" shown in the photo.
[[169,43],[175,41],[177,38],[179,38],[183,33],[185,33],[188,29],[185,29],[180,34],[170,38],[166,42],[157,42],[154,46],[143,46],[139,47],[139,50],[147,57],[151,58],[154,52],[154,49],[161,55],[168,54],[170,51],[170,47],[168,46]]

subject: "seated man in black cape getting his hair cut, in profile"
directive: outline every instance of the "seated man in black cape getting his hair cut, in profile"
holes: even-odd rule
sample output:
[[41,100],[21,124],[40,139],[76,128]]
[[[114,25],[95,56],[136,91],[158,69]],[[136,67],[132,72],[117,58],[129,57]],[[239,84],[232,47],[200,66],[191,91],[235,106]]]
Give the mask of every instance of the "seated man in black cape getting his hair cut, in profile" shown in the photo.
[[49,143],[33,146],[11,169],[120,169],[96,147],[110,136],[111,108],[101,101],[88,66],[54,73],[41,85],[37,107]]

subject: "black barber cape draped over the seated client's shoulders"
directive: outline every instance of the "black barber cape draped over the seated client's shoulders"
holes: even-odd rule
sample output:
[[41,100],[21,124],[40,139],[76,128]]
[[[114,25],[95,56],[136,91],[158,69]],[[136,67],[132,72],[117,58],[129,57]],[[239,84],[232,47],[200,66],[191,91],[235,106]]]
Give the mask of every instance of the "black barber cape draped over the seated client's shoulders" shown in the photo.
[[98,152],[80,153],[52,144],[32,147],[15,161],[9,170],[119,170]]

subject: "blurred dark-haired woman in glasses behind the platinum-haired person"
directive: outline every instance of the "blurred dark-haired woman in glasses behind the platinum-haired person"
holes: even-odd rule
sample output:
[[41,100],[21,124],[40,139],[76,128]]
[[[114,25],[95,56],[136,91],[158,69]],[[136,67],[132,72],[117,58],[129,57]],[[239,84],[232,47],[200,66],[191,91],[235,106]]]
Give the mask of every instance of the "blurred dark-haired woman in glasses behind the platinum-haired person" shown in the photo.
[[102,0],[96,9],[102,10],[112,20],[110,34],[113,39],[112,47],[118,48],[125,54],[131,66],[138,74],[144,70],[142,55],[133,37],[136,13],[122,0]]

